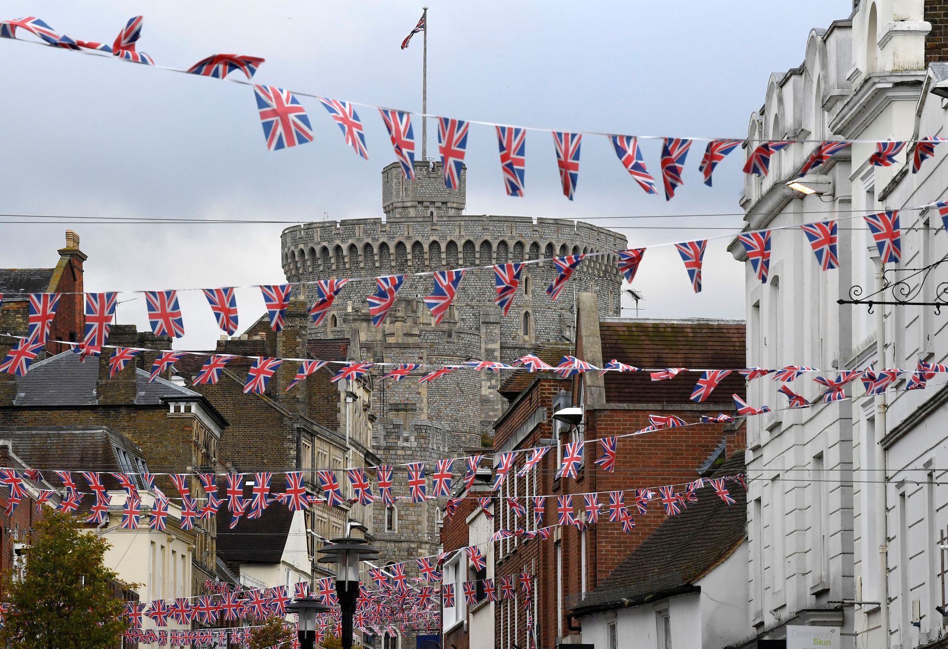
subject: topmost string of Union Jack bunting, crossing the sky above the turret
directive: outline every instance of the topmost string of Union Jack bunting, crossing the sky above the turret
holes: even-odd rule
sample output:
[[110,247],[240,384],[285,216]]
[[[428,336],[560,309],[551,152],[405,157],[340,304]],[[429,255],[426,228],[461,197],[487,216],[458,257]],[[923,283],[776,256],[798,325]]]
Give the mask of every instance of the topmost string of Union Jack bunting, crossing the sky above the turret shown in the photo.
[[[82,41],[60,33],[45,21],[27,16],[16,20],[0,21],[0,37],[16,38],[17,28],[39,37],[46,45],[62,49],[82,51],[86,54],[112,55],[120,60],[155,66],[148,54],[137,50],[141,37],[143,19],[131,18],[118,33],[113,45]],[[327,99],[312,93],[291,92],[273,85],[252,83],[264,59],[237,54],[214,54],[194,63],[187,69],[165,66],[162,69],[189,73],[213,79],[228,79],[238,83],[252,85],[259,117],[263,125],[264,139],[270,151],[291,148],[313,141],[313,127],[299,97],[318,99],[330,117],[337,123],[345,143],[351,146],[357,155],[368,159],[368,149],[361,119],[356,106],[379,111],[392,141],[392,149],[407,179],[414,177],[415,135],[411,123],[411,113],[394,108],[374,106],[355,101]],[[228,78],[231,73],[244,75],[246,79]],[[501,173],[504,189],[508,196],[522,196],[525,187],[526,170],[526,132],[545,131],[553,135],[556,165],[559,171],[563,194],[573,200],[579,176],[579,158],[582,136],[605,135],[609,138],[619,162],[632,176],[633,180],[648,194],[657,194],[656,181],[647,171],[644,156],[639,149],[639,139],[661,139],[663,142],[660,171],[665,200],[670,200],[676,189],[684,184],[682,171],[691,145],[696,140],[707,141],[699,165],[702,181],[712,185],[712,174],[720,162],[738,146],[746,147],[748,156],[743,171],[757,176],[766,176],[770,171],[770,162],[775,153],[787,149],[794,143],[814,142],[815,148],[799,169],[799,176],[806,175],[847,149],[853,143],[873,143],[876,150],[869,156],[869,163],[877,167],[889,167],[898,164],[899,156],[906,150],[911,153],[912,171],[917,172],[921,163],[935,153],[935,147],[945,141],[945,137],[924,136],[916,140],[757,140],[749,138],[705,138],[705,137],[658,137],[655,135],[616,135],[597,132],[571,132],[553,129],[539,129],[524,126],[506,126],[493,122],[457,119],[436,115],[432,117],[438,125],[438,151],[441,154],[444,170],[444,182],[447,189],[458,189],[461,170],[465,163],[467,135],[471,124],[494,127],[500,152]],[[912,146],[914,145],[914,146]]]

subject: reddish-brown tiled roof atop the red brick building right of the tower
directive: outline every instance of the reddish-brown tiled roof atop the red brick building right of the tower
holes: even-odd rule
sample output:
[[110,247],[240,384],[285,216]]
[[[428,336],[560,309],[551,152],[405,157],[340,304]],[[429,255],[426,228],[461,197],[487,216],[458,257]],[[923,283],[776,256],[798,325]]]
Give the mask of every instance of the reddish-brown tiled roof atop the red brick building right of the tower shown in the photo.
[[[743,368],[744,323],[737,321],[604,320],[599,323],[603,363],[613,358],[637,368]],[[698,378],[688,372],[668,381],[652,381],[647,372],[605,377],[609,403],[682,404],[689,401]],[[732,394],[744,394],[737,372],[720,382],[705,403],[730,404]]]

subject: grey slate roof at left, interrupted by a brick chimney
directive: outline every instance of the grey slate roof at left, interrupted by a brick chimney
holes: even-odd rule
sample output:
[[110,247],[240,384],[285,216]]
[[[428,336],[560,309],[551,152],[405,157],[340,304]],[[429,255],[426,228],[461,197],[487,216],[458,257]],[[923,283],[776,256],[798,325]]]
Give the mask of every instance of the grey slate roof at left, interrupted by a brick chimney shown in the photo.
[[[108,352],[106,352],[108,353]],[[84,363],[78,353],[62,352],[30,367],[26,376],[16,377],[15,406],[95,406],[99,403],[96,387],[99,382],[99,359]],[[138,406],[158,406],[163,399],[202,398],[188,388],[156,378],[148,382],[148,372],[136,368]]]

